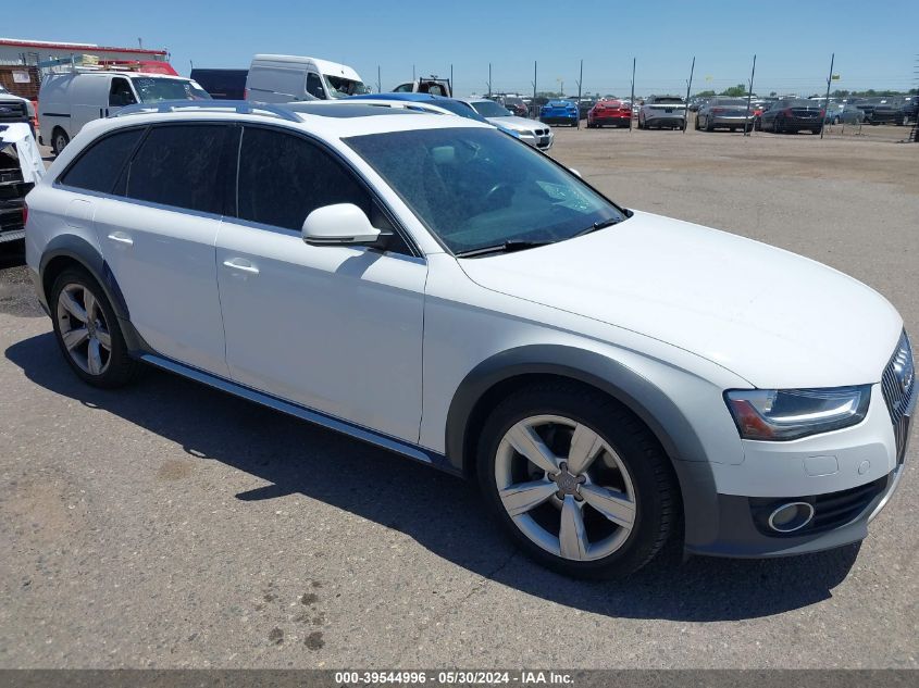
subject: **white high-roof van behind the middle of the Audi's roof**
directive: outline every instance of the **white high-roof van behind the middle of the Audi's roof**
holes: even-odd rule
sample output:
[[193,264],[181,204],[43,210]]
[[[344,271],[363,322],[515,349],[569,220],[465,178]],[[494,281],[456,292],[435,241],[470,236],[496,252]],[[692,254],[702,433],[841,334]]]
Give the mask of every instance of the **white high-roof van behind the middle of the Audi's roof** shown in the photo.
[[286,103],[370,92],[347,64],[301,55],[256,55],[246,78],[246,100]]

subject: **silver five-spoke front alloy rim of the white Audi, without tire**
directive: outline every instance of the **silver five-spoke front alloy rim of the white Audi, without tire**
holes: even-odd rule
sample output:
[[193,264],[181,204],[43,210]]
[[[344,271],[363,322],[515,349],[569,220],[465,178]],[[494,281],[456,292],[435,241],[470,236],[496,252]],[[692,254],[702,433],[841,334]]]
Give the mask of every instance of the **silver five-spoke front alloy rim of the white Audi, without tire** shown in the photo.
[[599,434],[571,418],[538,415],[511,426],[497,449],[495,480],[517,527],[562,559],[608,556],[635,527],[629,470]]

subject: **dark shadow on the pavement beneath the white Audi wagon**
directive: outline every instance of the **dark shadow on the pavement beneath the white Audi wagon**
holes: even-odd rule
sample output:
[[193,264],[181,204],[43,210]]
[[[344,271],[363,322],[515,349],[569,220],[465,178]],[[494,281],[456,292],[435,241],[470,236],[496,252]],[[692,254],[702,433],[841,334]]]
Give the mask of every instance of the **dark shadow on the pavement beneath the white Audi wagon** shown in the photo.
[[54,393],[271,484],[237,495],[244,502],[305,495],[405,533],[496,583],[593,613],[690,622],[779,614],[832,597],[858,555],[850,546],[790,559],[682,562],[673,546],[626,580],[572,584],[517,552],[472,484],[167,373],[148,371],[120,391],[88,387],[67,368],[50,333],[11,346],[5,356]]

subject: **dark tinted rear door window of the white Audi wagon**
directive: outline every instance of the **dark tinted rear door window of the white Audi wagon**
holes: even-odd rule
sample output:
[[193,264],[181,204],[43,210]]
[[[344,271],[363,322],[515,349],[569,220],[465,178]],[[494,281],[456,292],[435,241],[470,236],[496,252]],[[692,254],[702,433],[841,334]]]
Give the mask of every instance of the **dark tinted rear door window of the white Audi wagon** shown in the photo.
[[228,127],[218,124],[153,127],[128,165],[125,196],[221,213],[221,158],[227,133]]

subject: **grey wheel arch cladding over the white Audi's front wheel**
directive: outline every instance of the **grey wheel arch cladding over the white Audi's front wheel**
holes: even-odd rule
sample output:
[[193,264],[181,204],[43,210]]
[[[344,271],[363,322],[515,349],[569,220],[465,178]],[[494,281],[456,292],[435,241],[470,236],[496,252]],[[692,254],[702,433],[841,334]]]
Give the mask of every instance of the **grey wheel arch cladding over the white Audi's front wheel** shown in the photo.
[[584,385],[612,397],[634,413],[673,466],[683,500],[686,545],[707,542],[716,536],[715,478],[690,422],[648,379],[592,351],[533,345],[498,353],[475,366],[454,395],[447,414],[445,446],[450,464],[472,475],[479,431],[489,411],[514,390],[546,379]]

